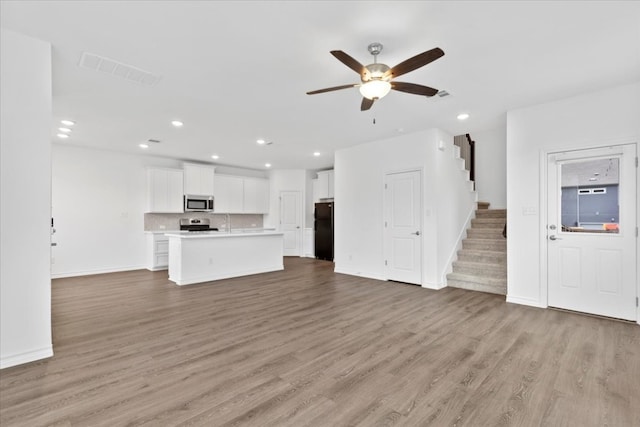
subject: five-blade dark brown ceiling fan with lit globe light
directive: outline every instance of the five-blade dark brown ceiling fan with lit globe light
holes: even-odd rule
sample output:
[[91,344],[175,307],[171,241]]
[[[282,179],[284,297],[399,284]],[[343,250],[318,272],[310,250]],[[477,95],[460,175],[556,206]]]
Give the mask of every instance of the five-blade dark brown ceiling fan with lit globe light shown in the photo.
[[422,52],[421,54],[411,57],[392,68],[386,64],[378,63],[378,54],[382,51],[382,44],[371,43],[367,49],[369,50],[369,53],[373,55],[373,64],[369,64],[366,67],[341,50],[331,51],[331,54],[335,56],[338,61],[360,74],[361,83],[318,89],[307,92],[307,95],[358,87],[360,88],[360,93],[363,97],[362,104],[360,104],[360,110],[365,111],[370,109],[376,100],[388,94],[391,89],[423,96],[433,96],[438,93],[437,89],[429,86],[418,85],[415,83],[396,82],[393,79],[423,67],[440,58],[444,55],[442,49],[436,47],[426,52]]

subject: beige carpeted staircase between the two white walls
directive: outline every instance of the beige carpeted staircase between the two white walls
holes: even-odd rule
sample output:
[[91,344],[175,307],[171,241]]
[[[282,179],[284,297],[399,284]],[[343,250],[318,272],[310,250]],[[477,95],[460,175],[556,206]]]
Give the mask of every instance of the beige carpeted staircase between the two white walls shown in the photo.
[[475,219],[462,241],[447,285],[472,291],[507,294],[507,239],[502,236],[506,209],[489,209],[478,202]]

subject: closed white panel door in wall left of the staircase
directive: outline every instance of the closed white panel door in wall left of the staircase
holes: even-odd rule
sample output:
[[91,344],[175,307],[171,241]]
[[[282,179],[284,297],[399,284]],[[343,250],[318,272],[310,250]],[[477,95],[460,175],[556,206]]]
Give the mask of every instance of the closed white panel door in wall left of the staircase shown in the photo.
[[420,171],[385,179],[385,273],[388,280],[422,284]]

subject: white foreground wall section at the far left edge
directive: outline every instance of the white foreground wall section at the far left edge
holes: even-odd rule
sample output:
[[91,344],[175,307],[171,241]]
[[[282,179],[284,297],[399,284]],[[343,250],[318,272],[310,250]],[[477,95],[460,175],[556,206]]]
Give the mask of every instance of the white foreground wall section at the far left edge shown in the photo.
[[53,355],[51,45],[0,34],[0,368]]

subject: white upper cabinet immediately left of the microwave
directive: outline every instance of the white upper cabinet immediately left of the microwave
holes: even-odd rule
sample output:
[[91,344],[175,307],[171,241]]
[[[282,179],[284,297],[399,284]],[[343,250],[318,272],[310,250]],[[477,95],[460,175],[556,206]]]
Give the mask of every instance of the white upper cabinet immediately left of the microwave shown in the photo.
[[182,188],[180,169],[147,169],[147,212],[182,213]]

